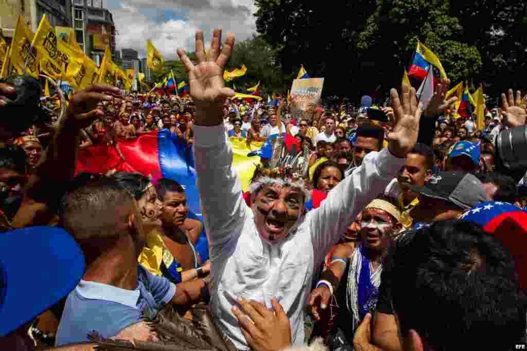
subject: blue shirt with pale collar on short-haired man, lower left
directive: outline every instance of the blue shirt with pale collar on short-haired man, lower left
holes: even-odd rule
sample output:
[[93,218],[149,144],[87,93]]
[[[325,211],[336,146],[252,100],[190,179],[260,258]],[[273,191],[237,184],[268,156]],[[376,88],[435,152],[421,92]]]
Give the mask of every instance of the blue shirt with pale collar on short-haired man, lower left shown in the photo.
[[121,289],[112,285],[81,280],[67,296],[61,322],[58,325],[56,346],[88,341],[94,330],[104,338],[114,337],[121,330],[157,314],[175,294],[175,285],[138,265],[138,287]]

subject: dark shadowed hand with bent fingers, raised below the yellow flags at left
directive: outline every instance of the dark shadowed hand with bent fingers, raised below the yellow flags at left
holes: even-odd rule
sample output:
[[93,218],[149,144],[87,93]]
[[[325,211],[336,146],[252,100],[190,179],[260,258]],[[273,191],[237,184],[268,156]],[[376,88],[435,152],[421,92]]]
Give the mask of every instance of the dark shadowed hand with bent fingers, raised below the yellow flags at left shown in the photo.
[[66,109],[65,123],[72,123],[75,128],[87,128],[97,118],[104,116],[99,108],[102,101],[110,102],[114,97],[122,97],[119,88],[108,84],[97,83],[76,92]]

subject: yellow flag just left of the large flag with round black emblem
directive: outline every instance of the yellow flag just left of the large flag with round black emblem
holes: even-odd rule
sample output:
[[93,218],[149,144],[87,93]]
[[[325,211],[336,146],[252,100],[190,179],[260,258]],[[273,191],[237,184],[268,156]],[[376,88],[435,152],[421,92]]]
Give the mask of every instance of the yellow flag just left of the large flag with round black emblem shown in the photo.
[[38,63],[42,59],[42,53],[31,46],[33,37],[34,34],[24,23],[24,18],[19,16],[11,48],[9,48],[7,65],[2,67],[2,77],[10,74],[24,74],[24,72],[35,78],[38,76]]

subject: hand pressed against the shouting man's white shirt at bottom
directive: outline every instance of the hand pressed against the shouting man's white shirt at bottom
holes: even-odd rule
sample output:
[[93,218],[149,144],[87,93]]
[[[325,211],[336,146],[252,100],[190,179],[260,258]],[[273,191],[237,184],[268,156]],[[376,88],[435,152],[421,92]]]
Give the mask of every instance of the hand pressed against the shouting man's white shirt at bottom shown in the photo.
[[232,313],[253,351],[280,351],[291,346],[289,319],[275,298],[271,300],[274,312],[254,300],[239,299],[239,304],[241,310],[232,307]]

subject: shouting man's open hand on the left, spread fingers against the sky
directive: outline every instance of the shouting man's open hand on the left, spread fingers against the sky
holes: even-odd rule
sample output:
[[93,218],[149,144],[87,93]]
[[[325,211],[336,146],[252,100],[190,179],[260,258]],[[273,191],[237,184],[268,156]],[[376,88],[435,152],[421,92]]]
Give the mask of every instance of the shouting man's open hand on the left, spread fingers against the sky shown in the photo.
[[225,99],[235,92],[223,86],[223,67],[234,46],[234,34],[227,34],[227,41],[220,48],[221,29],[214,29],[209,57],[203,46],[203,32],[196,32],[196,57],[194,65],[183,49],[177,53],[189,74],[190,96],[196,104],[196,125],[219,125],[223,122],[222,106]]

